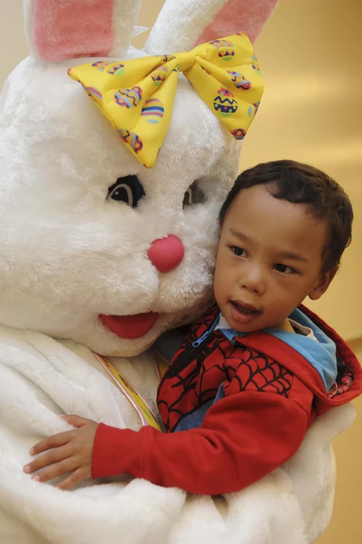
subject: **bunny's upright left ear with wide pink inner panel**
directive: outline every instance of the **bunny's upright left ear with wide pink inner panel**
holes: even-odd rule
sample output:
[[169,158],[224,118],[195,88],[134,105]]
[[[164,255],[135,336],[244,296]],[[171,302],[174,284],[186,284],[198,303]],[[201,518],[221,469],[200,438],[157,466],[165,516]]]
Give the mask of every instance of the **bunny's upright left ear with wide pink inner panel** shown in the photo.
[[141,0],[24,0],[31,54],[57,62],[89,56],[124,56]]

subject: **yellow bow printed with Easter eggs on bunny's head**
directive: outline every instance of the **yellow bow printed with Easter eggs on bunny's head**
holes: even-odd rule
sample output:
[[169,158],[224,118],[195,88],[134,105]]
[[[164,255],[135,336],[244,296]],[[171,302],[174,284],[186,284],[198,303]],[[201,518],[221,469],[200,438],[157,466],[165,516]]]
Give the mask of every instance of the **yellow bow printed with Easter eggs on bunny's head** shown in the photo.
[[257,112],[263,81],[245,34],[198,45],[189,53],[153,56],[69,69],[146,167],[152,167],[169,129],[183,72],[234,138],[242,140]]

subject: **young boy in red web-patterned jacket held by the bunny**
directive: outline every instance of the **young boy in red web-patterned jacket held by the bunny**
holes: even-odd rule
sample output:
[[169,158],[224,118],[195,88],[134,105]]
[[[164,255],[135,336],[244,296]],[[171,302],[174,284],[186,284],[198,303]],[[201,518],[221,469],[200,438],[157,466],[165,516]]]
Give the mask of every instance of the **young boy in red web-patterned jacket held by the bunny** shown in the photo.
[[308,165],[280,160],[243,172],[220,213],[216,305],[184,340],[157,404],[167,433],[66,417],[24,468],[60,488],[129,473],[192,493],[231,493],[298,450],[316,415],[361,393],[345,342],[307,308],[334,278],[351,240],[343,189]]

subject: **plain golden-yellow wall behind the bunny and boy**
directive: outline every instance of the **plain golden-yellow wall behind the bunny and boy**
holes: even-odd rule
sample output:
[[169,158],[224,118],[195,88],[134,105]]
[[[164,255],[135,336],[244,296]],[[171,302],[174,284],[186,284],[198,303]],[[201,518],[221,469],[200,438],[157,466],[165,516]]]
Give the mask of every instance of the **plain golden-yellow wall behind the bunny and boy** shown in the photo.
[[[0,0],[0,87],[27,55],[21,4]],[[162,4],[144,0],[139,24],[152,26]],[[347,339],[362,336],[361,35],[361,0],[281,0],[255,44],[266,90],[241,162],[243,168],[277,158],[312,163],[350,195],[354,241],[327,295],[310,304]],[[145,37],[134,44],[141,46]],[[361,412],[361,400],[356,406]],[[334,517],[318,544],[362,543],[361,436],[357,420],[335,440]]]

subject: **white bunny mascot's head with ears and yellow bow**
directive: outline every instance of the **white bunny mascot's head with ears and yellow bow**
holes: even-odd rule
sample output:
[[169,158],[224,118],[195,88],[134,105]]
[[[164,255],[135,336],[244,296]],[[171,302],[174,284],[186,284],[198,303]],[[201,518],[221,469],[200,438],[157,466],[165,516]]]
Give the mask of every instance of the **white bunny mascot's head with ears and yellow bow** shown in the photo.
[[[166,1],[146,51],[128,53],[139,0],[25,2],[31,57],[1,97],[2,324],[130,356],[204,307],[218,208],[236,177],[261,76],[243,36],[235,37],[239,63],[232,42],[209,44],[205,60],[205,47],[191,60],[169,53],[221,31],[255,38],[274,4]],[[123,75],[124,64],[110,60],[150,54],[160,56],[128,60]],[[196,57],[203,64],[189,75]],[[221,81],[202,66],[214,66]],[[108,110],[103,97],[105,115],[69,67],[98,102],[98,83],[115,85]],[[196,88],[200,79],[200,92],[187,76]],[[237,94],[240,116],[230,126]],[[144,125],[141,137],[134,124]]]

